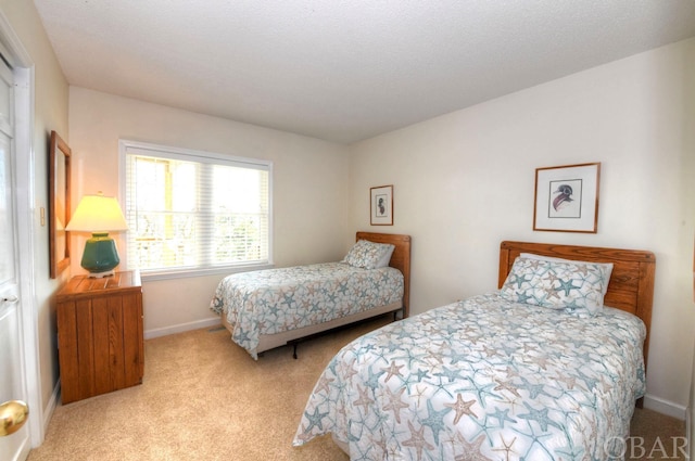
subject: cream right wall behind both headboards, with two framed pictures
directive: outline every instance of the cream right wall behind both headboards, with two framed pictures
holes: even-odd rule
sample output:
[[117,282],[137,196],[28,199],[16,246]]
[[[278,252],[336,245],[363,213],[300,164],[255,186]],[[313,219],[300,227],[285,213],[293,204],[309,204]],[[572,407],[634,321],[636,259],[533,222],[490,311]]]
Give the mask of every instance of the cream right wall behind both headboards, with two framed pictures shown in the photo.
[[[646,405],[683,419],[695,328],[694,63],[691,39],[355,144],[350,227],[370,228],[370,187],[394,185],[394,226],[371,230],[413,236],[414,313],[496,289],[503,240],[654,252]],[[589,162],[602,163],[598,232],[534,232],[535,168]]]

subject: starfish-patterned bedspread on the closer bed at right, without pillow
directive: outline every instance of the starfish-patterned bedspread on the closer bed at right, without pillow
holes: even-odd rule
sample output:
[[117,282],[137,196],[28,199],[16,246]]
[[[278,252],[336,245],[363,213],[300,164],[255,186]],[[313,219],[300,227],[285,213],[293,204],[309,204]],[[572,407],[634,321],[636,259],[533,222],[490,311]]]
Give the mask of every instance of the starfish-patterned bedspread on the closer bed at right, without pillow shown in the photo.
[[618,459],[645,335],[617,309],[581,319],[498,292],[432,309],[341,349],[293,445],[332,433],[353,460]]

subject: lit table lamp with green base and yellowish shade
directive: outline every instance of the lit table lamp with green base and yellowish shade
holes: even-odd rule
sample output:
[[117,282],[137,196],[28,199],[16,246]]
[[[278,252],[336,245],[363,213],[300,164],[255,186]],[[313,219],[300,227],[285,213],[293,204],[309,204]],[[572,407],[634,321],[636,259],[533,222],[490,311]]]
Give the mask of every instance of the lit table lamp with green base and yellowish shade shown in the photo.
[[65,230],[91,232],[80,261],[80,266],[89,271],[89,277],[113,276],[121,259],[116,242],[109,236],[109,232],[128,230],[115,197],[103,196],[101,193],[83,196]]

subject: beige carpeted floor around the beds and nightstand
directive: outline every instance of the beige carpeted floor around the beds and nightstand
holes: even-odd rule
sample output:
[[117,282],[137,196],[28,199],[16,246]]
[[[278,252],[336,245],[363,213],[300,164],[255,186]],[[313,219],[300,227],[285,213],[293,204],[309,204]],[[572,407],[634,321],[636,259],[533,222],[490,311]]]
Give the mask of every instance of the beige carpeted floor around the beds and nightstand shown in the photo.
[[[28,460],[346,460],[330,438],[301,448],[291,441],[325,364],[388,321],[301,344],[298,360],[282,347],[256,362],[220,329],[147,341],[143,384],[59,406]],[[628,459],[686,459],[671,441],[684,437],[682,421],[637,410],[632,433],[644,437],[644,450],[635,446],[641,456]]]

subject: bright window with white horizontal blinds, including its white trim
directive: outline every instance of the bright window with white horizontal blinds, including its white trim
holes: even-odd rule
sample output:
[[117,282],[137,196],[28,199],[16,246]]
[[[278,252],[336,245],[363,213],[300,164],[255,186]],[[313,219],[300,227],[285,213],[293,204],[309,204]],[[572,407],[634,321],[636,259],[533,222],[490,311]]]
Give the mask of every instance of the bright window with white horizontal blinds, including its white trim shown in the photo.
[[128,269],[147,276],[271,262],[270,162],[132,141],[119,151]]

